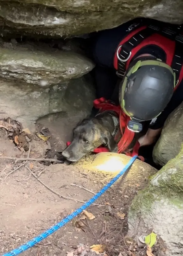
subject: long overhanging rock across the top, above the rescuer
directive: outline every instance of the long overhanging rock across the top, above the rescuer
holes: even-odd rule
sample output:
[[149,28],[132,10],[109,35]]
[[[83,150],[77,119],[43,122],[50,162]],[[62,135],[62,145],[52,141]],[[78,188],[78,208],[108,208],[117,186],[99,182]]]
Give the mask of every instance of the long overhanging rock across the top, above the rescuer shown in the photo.
[[83,35],[117,27],[139,16],[183,22],[183,2],[178,0],[1,0],[0,7],[3,36]]

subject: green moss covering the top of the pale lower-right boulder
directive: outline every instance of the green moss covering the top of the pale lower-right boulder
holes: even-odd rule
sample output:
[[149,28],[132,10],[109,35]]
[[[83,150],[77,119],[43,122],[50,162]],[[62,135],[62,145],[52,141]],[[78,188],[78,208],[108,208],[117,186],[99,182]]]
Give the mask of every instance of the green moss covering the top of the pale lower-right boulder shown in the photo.
[[[177,207],[183,207],[183,146],[180,153],[174,159],[170,160],[152,179],[159,176],[158,187],[149,184],[146,189],[140,191],[134,198],[129,211],[129,216],[147,213],[155,201],[162,198],[168,199]],[[168,174],[168,170],[176,169],[173,174]],[[167,173],[167,175],[166,175]]]

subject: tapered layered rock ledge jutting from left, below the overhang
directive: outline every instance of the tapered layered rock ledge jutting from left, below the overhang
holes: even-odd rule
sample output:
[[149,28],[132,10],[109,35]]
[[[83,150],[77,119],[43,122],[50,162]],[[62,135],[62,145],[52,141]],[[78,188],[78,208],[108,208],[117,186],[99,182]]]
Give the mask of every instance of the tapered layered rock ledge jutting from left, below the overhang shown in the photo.
[[86,57],[35,45],[0,45],[0,77],[49,86],[90,72],[94,64]]

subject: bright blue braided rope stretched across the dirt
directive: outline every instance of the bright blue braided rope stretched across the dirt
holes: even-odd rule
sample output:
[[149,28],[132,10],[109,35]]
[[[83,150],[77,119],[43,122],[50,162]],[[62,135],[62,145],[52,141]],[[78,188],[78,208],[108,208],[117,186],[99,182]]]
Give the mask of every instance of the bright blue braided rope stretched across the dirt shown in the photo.
[[5,253],[2,256],[16,256],[24,251],[28,250],[30,247],[34,246],[35,244],[41,242],[43,239],[47,238],[49,235],[53,234],[56,230],[60,227],[63,227],[67,222],[71,221],[74,217],[80,214],[83,210],[89,207],[93,202],[95,202],[104,192],[109,189],[114,182],[116,182],[134,163],[138,156],[134,156],[130,159],[127,165],[123,168],[123,170],[117,174],[107,185],[105,185],[97,194],[95,194],[91,199],[89,199],[85,204],[75,210],[73,213],[69,214],[65,219],[54,225],[53,227],[47,229],[47,231],[43,232],[42,234],[36,236],[32,240],[28,241],[26,244],[12,250],[9,253]]

